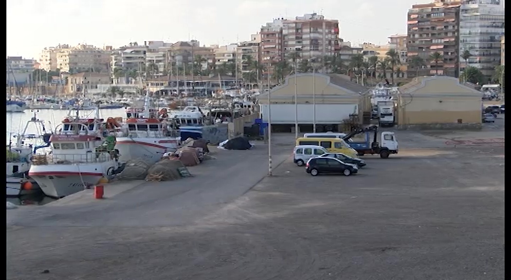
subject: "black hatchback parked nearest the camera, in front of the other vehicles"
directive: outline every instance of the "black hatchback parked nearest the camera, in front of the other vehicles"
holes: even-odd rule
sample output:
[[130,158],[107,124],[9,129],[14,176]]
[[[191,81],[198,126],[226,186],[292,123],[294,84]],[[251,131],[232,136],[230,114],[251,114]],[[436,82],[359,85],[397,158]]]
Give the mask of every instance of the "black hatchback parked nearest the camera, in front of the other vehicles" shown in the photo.
[[335,158],[318,157],[310,159],[305,170],[313,176],[336,173],[350,176],[358,172],[358,167],[355,164],[344,163]]

